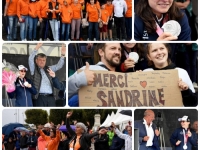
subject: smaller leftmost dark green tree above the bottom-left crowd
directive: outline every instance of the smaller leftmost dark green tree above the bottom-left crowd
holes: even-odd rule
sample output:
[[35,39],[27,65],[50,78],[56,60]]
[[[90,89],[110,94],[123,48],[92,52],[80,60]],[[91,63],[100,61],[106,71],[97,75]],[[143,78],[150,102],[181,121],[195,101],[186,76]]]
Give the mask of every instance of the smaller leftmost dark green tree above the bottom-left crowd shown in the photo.
[[26,119],[25,122],[28,124],[39,124],[44,125],[48,122],[48,114],[46,110],[42,109],[28,109],[25,111]]

